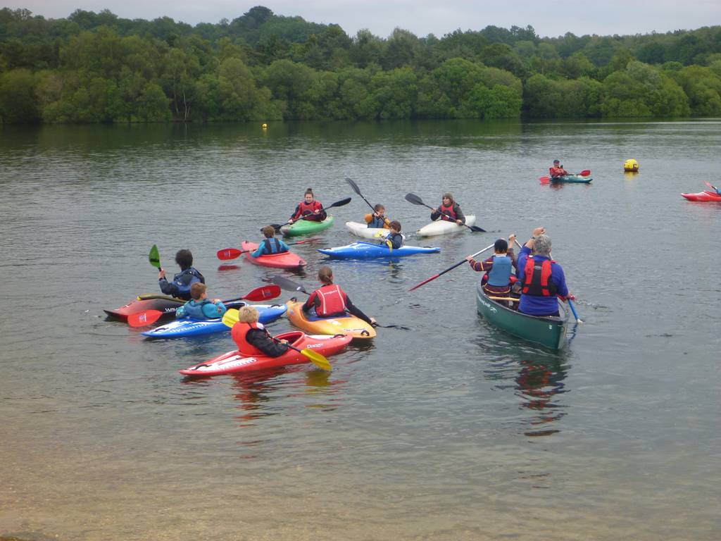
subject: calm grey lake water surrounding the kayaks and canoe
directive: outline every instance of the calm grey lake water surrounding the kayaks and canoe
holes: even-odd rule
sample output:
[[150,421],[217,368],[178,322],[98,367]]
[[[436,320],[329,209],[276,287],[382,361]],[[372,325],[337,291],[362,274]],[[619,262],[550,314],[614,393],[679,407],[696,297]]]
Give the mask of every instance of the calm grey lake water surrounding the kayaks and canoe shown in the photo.
[[[0,129],[0,536],[27,540],[718,540],[721,122],[260,123]],[[541,185],[552,159],[590,185]],[[624,175],[635,158],[640,173]],[[450,190],[490,232],[437,255],[332,263],[385,329],[310,365],[188,381],[228,334],[143,340],[105,320],[189,247],[219,265],[312,186],[337,223],[383,202],[405,232]],[[546,227],[583,325],[551,353],[476,314],[491,244]],[[283,299],[288,296],[284,294]],[[290,327],[287,320],[270,326]]]

